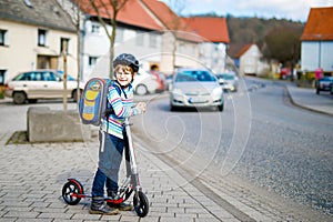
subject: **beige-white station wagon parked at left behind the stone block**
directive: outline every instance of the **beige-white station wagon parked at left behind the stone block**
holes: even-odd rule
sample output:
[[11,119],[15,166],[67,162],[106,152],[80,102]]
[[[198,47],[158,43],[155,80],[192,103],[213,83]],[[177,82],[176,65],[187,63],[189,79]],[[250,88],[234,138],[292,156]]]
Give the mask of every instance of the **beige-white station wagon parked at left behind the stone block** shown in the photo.
[[[77,80],[68,75],[67,98],[77,101]],[[84,83],[80,84],[82,91]],[[6,82],[6,97],[12,98],[16,104],[27,101],[37,102],[38,99],[63,98],[63,74],[57,70],[33,70],[21,72]]]

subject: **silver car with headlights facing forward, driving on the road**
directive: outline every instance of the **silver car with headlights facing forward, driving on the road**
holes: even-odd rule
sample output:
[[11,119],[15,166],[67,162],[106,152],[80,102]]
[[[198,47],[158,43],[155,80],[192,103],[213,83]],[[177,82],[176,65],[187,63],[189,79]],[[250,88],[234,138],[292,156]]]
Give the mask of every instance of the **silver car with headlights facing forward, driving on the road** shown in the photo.
[[223,90],[210,71],[181,69],[173,78],[170,107],[171,111],[178,108],[218,108],[223,111]]

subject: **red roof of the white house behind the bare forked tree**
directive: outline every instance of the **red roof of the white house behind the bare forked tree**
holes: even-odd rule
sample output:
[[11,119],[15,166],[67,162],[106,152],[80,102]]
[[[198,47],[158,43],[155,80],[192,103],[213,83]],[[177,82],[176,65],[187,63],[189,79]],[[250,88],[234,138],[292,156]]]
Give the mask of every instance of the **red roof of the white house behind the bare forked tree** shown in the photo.
[[[78,1],[78,0],[77,0]],[[112,19],[113,10],[110,6],[110,0],[94,0],[99,6],[104,3],[105,8],[101,8],[100,14],[102,18]],[[98,16],[92,8],[90,0],[80,0],[81,10],[91,16]],[[129,0],[117,16],[118,22],[123,22],[131,26],[138,26],[150,30],[162,30],[162,27],[149,14],[139,0]]]

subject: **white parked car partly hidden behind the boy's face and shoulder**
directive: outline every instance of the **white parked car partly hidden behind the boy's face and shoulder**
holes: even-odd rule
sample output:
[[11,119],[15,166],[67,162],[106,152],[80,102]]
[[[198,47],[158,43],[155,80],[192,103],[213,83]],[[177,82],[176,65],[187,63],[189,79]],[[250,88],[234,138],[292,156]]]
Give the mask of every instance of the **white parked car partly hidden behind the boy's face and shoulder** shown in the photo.
[[149,72],[140,68],[132,85],[135,94],[143,95],[155,93],[158,89],[158,80],[155,75],[150,74]]

